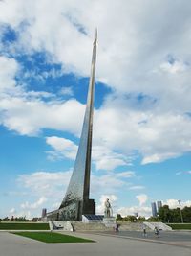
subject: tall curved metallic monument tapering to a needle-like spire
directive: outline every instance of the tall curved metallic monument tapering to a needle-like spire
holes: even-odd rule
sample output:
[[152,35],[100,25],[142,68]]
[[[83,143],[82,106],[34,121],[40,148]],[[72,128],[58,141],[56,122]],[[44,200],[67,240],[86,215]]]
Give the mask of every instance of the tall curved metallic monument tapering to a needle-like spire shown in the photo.
[[94,199],[89,199],[96,77],[96,42],[97,31],[93,44],[93,57],[87,105],[80,143],[74,163],[74,171],[71,176],[65,198],[62,200],[59,209],[47,215],[50,220],[80,221],[82,214],[96,214],[96,203]]

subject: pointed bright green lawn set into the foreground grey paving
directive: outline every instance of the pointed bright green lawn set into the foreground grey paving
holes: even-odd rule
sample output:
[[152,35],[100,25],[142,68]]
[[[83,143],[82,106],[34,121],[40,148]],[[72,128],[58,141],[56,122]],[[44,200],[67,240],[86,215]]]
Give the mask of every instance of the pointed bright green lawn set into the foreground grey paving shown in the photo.
[[53,232],[12,232],[12,234],[31,238],[45,243],[84,243],[95,242],[88,239],[77,238]]

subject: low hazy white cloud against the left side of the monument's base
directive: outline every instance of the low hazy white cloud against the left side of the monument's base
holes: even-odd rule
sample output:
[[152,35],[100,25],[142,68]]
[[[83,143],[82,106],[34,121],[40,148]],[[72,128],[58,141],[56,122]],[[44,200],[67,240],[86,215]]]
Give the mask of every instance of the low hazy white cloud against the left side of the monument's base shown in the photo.
[[[69,184],[71,171],[67,172],[34,172],[27,175],[19,175],[17,183],[26,195],[32,196],[29,200],[21,203],[16,216],[36,217],[41,215],[42,208],[52,211],[59,207],[65,196]],[[38,199],[36,199],[38,198]],[[32,202],[34,201],[34,202]],[[30,213],[30,214],[29,214]]]

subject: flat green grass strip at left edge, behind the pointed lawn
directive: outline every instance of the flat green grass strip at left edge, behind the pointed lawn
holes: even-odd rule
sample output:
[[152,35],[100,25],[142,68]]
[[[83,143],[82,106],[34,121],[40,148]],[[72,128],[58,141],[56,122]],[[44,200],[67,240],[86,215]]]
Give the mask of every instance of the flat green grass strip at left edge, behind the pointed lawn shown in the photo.
[[49,230],[48,223],[7,222],[0,223],[1,230]]

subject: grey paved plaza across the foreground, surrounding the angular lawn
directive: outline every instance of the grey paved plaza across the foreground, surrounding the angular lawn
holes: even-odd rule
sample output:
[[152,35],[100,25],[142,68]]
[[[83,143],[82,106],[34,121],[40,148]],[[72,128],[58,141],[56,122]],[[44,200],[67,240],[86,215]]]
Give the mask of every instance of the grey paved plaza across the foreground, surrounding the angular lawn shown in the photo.
[[[69,234],[69,233],[65,233]],[[9,232],[0,232],[0,256],[190,256],[191,232],[165,232],[145,239],[139,232],[72,233],[96,243],[45,244]]]

